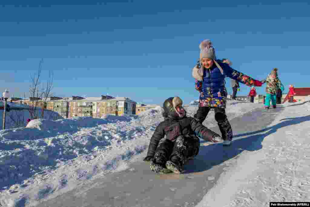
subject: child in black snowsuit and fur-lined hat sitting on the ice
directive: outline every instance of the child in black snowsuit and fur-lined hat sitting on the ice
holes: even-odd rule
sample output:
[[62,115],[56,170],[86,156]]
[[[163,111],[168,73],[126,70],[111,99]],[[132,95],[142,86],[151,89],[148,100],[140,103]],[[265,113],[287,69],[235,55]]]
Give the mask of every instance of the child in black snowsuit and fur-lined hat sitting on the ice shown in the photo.
[[[218,142],[222,138],[196,119],[187,117],[179,97],[166,99],[163,109],[165,120],[153,133],[144,161],[152,161],[150,168],[156,173],[166,169],[182,173],[186,160],[198,155],[200,142],[197,135],[210,142]],[[166,139],[163,139],[165,135]]]

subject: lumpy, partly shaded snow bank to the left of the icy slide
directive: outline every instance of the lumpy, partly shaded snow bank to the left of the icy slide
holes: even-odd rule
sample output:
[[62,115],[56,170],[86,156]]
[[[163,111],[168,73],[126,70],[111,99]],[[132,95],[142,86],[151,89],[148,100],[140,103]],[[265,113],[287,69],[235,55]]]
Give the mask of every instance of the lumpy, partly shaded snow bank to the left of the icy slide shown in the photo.
[[[261,105],[228,101],[228,119]],[[197,106],[187,106],[188,115]],[[0,204],[34,206],[145,156],[162,107],[139,115],[36,119],[0,131]],[[213,113],[213,115],[212,115]],[[210,112],[206,126],[215,125]]]

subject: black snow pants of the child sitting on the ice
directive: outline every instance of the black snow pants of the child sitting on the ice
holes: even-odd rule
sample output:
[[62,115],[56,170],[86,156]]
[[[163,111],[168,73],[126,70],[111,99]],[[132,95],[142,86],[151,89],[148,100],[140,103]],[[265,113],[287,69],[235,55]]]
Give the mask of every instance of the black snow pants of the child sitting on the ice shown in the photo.
[[165,167],[170,160],[183,167],[186,160],[198,155],[199,146],[199,138],[195,136],[179,136],[174,141],[162,139],[152,161]]

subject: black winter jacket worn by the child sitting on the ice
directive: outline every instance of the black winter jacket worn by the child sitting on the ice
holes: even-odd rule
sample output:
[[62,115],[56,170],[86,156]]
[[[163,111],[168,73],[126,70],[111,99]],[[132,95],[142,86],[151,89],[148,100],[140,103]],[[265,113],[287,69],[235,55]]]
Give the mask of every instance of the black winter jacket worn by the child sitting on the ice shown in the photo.
[[184,116],[183,118],[166,118],[156,128],[148,146],[147,156],[154,156],[159,141],[165,137],[170,141],[174,141],[180,135],[185,137],[196,137],[198,135],[202,139],[208,141],[216,133],[200,124],[193,117]]

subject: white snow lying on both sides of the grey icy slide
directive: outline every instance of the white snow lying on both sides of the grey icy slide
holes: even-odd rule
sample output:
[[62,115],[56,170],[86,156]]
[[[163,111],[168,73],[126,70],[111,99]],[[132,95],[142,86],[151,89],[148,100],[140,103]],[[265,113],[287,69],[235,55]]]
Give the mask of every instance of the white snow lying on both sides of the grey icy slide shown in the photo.
[[[185,105],[189,116],[196,113],[196,103]],[[271,125],[284,124],[263,140],[261,150],[241,153],[242,162],[222,173],[198,205],[267,206],[271,199],[310,200],[309,99],[282,106],[284,111]],[[233,119],[256,108],[262,104],[228,99],[226,114]],[[140,115],[35,119],[27,127],[0,130],[0,206],[39,206],[142,160],[163,121],[161,112],[158,106]],[[212,111],[203,124],[217,125]],[[252,170],[244,170],[248,168]]]

